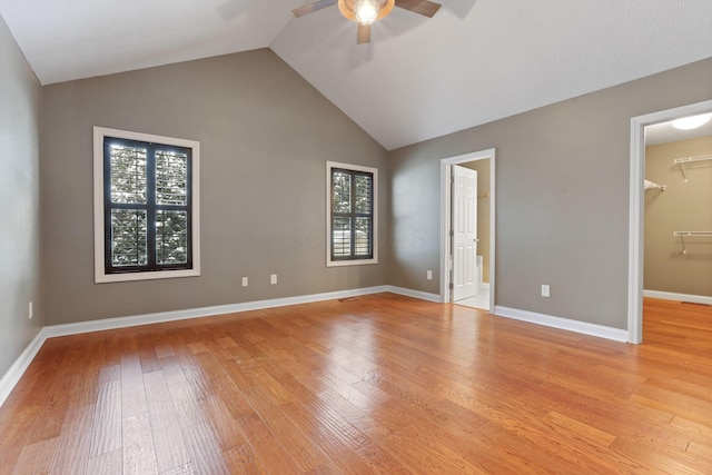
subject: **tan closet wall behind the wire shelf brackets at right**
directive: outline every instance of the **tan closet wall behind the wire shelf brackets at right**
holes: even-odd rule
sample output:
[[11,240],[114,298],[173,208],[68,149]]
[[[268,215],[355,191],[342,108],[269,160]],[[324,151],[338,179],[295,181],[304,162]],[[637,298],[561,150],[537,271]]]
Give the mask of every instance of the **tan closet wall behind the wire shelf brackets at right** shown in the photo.
[[673,159],[712,155],[712,137],[645,148],[645,178],[665,191],[645,191],[646,290],[712,296],[712,237],[688,239],[681,255],[674,231],[712,231],[712,161],[685,167],[688,182]]

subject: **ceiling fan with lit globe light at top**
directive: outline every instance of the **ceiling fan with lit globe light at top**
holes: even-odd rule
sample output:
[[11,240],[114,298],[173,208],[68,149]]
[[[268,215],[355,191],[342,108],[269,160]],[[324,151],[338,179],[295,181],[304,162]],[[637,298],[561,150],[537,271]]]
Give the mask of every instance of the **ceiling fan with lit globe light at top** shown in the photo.
[[433,18],[441,8],[439,3],[428,0],[317,0],[291,12],[299,18],[335,3],[346,19],[358,23],[356,34],[358,44],[370,42],[370,24],[390,13],[393,7],[400,7],[428,18]]

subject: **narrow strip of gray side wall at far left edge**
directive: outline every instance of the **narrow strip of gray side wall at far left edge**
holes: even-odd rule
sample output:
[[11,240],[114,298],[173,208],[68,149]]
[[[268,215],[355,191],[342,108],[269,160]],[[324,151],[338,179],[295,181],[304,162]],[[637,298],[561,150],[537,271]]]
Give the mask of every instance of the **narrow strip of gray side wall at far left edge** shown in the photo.
[[0,377],[44,325],[39,288],[40,102],[40,83],[0,17]]

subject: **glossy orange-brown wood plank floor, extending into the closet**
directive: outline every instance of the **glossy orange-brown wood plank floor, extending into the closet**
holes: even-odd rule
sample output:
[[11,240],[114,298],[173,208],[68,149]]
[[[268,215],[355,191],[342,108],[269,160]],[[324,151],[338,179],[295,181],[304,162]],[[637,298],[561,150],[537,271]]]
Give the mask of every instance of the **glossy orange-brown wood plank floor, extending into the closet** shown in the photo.
[[712,308],[641,346],[392,294],[49,339],[0,474],[712,473]]

